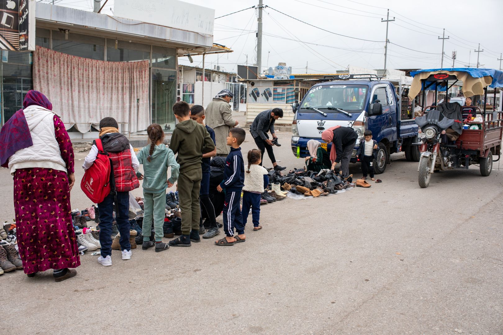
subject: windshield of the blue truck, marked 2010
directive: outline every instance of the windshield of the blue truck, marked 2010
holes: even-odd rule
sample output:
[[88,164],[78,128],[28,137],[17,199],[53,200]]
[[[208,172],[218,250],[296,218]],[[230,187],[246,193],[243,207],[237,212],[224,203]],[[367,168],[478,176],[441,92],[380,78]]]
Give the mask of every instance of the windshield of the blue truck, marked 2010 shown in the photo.
[[[306,107],[318,109],[335,107],[347,111],[362,111],[365,108],[367,90],[368,87],[365,85],[333,84],[316,86],[307,92],[300,106],[301,109]],[[326,111],[328,113],[340,113],[337,110],[330,109],[326,109]]]

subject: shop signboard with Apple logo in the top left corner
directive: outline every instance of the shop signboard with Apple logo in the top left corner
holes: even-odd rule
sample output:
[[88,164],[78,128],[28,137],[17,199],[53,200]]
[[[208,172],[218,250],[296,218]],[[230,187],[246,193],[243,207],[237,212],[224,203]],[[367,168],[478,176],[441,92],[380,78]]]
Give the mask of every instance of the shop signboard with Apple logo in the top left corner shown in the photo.
[[35,1],[0,1],[0,49],[35,50]]

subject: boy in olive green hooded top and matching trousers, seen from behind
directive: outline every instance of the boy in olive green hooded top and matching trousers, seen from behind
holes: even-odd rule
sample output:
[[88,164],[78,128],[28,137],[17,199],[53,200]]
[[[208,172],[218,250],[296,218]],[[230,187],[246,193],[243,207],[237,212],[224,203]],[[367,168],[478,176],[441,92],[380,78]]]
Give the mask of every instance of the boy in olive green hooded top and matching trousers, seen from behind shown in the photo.
[[182,236],[170,241],[172,247],[190,247],[192,242],[201,242],[199,237],[199,191],[203,172],[201,160],[203,154],[212,152],[215,144],[203,125],[190,118],[190,107],[185,101],[173,105],[173,112],[178,120],[171,136],[170,149],[178,153],[180,164],[178,194],[182,209]]

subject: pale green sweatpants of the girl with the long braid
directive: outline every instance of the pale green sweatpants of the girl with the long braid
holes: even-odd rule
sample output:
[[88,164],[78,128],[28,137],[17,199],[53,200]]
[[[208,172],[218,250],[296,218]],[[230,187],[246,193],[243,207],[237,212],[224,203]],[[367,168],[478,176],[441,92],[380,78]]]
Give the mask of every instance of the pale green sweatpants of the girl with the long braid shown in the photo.
[[155,242],[162,241],[164,237],[164,217],[166,215],[166,191],[160,193],[145,193],[143,191],[143,226],[141,235],[143,241],[150,241],[152,234],[152,219],[154,222]]

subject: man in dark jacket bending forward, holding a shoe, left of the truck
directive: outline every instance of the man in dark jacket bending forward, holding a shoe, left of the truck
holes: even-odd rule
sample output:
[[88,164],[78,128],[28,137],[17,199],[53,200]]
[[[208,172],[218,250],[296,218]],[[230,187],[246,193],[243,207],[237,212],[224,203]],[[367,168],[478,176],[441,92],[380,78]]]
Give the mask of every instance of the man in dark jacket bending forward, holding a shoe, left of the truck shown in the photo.
[[[255,120],[250,126],[251,136],[253,136],[255,144],[257,144],[257,146],[260,149],[260,152],[262,153],[261,155],[262,162],[264,161],[264,152],[267,149],[267,154],[269,155],[269,158],[273,163],[275,171],[282,171],[286,169],[286,167],[279,166],[278,163],[276,163],[276,158],[274,157],[273,152],[273,145],[279,146],[278,137],[274,133],[274,123],[279,118],[283,118],[283,109],[274,108],[264,110],[261,113],[259,113],[259,115],[255,118]],[[267,135],[267,132],[269,131],[271,131],[273,140],[270,140],[269,136]],[[260,165],[262,165],[262,162],[260,163]]]

